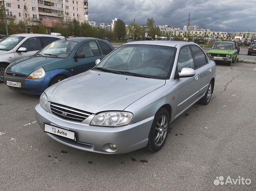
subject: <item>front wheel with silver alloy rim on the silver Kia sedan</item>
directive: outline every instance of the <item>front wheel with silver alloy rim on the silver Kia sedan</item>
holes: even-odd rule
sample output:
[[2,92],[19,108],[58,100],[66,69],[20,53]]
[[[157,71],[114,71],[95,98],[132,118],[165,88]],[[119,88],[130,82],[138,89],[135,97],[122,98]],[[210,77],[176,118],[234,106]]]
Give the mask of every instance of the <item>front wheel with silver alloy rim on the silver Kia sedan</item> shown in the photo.
[[148,145],[146,148],[153,153],[159,151],[164,146],[170,128],[170,117],[167,109],[160,108],[154,117],[148,135]]

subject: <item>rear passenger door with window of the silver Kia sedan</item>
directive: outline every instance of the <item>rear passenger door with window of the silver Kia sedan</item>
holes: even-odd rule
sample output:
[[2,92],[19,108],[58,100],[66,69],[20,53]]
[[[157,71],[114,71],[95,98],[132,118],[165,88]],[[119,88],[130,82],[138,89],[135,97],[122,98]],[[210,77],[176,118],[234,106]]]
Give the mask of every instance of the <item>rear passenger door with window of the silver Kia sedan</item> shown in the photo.
[[199,86],[200,86],[200,95],[202,96],[212,80],[212,72],[213,72],[213,66],[211,66],[208,62],[208,59],[206,58],[206,54],[204,51],[199,48],[196,45],[190,46],[194,60],[195,60],[195,70],[198,71],[199,74]]

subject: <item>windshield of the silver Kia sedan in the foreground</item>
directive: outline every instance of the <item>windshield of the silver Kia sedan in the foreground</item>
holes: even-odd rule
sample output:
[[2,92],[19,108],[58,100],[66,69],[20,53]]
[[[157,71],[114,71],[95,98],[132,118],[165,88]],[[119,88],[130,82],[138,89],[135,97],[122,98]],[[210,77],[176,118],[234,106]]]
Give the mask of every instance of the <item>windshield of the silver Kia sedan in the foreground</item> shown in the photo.
[[123,45],[94,70],[154,79],[168,79],[176,48],[156,45]]

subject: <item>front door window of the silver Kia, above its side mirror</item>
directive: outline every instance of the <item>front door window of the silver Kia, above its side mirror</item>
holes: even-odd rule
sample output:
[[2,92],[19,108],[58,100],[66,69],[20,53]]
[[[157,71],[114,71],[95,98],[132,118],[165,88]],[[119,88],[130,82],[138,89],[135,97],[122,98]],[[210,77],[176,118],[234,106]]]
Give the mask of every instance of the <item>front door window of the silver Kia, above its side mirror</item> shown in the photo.
[[188,46],[180,49],[178,72],[180,72],[182,68],[194,68],[193,56]]

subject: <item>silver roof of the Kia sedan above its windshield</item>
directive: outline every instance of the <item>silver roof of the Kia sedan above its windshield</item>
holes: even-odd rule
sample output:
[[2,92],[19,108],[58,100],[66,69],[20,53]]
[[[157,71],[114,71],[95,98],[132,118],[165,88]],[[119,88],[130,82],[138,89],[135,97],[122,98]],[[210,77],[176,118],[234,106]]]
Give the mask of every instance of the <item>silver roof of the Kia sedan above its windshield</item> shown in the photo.
[[[144,44],[144,45],[158,45],[158,46],[170,46],[170,47],[176,47],[178,46],[185,46],[189,44],[197,45],[194,42],[185,42],[185,41],[168,41],[168,40],[144,40],[144,41],[133,41],[129,42],[127,44]],[[197,45],[198,46],[198,45]]]

